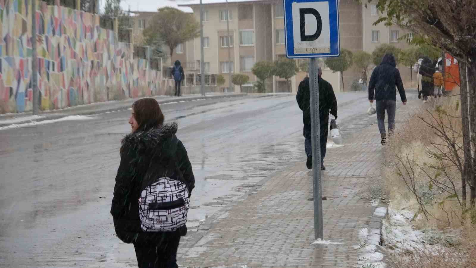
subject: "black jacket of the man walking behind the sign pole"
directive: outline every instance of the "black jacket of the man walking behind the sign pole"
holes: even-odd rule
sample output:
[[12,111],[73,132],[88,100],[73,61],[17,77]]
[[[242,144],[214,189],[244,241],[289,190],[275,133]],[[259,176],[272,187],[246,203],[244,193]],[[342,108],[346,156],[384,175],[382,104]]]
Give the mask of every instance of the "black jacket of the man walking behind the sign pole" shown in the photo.
[[[309,77],[299,83],[296,95],[297,105],[302,110],[304,124],[311,124],[311,99],[309,92]],[[337,99],[332,85],[319,77],[319,113],[320,118],[328,118],[330,114],[337,116]],[[321,123],[323,124],[323,123]],[[328,120],[324,124],[329,124]]]

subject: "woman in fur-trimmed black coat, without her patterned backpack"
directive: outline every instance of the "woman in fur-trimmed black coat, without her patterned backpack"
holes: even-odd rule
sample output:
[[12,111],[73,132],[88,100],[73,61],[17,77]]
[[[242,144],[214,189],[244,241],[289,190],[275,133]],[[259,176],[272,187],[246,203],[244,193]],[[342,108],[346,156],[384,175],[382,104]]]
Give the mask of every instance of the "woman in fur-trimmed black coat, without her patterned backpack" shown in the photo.
[[177,267],[177,249],[183,226],[173,232],[145,232],[139,218],[139,198],[145,180],[170,177],[185,183],[188,195],[195,187],[187,150],[175,135],[177,124],[163,124],[159,103],[144,98],[132,104],[132,133],[122,140],[120,165],[114,186],[111,215],[116,234],[133,243],[139,268]]

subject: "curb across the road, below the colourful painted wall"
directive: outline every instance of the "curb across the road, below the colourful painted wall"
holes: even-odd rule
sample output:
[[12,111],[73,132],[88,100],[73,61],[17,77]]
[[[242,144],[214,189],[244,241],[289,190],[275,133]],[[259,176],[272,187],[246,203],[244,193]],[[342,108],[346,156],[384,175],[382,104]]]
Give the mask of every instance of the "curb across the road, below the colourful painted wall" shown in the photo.
[[[160,99],[159,96],[155,96],[157,102],[159,104],[163,103],[170,103],[170,102],[179,102],[179,101],[194,101],[194,100],[199,100],[199,99],[219,99],[219,98],[233,98],[233,97],[243,97],[246,96],[246,93],[237,93],[237,94],[223,94],[223,95],[211,95],[211,96],[191,96],[191,97],[179,97],[179,98],[170,98],[170,99]],[[68,115],[92,115],[92,114],[98,114],[98,113],[111,113],[111,112],[116,112],[116,111],[122,111],[122,110],[127,110],[130,108],[132,103],[134,103],[136,99],[129,99],[120,103],[117,103],[117,106],[114,106],[111,108],[111,103],[94,103],[92,105],[97,105],[99,107],[89,107],[89,106],[80,106],[80,107],[71,107],[70,109],[67,110],[53,110],[51,112],[43,112],[40,113],[41,118],[38,119],[33,119],[33,120],[25,120],[19,123],[15,124],[23,124],[23,123],[30,123],[30,122],[41,122],[45,120],[55,120],[55,119],[60,119]],[[102,105],[101,105],[102,104]],[[100,106],[107,106],[107,107],[100,107]],[[88,109],[89,108],[89,109]],[[12,117],[15,118],[21,118],[21,117],[26,117],[30,116],[32,113],[21,113],[21,114],[13,114],[11,116],[5,116],[5,117],[0,117],[0,119],[10,119]],[[0,120],[1,122],[1,120]],[[1,124],[0,127],[5,127],[8,125],[11,125],[12,123],[7,123],[7,124]]]

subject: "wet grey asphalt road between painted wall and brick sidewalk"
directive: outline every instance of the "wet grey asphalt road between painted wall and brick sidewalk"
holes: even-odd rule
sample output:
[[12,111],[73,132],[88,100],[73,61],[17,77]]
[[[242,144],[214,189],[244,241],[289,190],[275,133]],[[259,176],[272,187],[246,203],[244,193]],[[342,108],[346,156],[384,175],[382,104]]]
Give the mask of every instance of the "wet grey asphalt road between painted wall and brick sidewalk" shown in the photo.
[[[346,132],[368,124],[366,99],[337,94],[344,143]],[[192,232],[248,186],[305,161],[295,96],[171,103],[162,110],[166,121],[178,122],[193,165]],[[115,251],[121,242],[109,214],[129,114],[0,131],[1,267],[120,267],[117,256],[135,257],[132,248]]]

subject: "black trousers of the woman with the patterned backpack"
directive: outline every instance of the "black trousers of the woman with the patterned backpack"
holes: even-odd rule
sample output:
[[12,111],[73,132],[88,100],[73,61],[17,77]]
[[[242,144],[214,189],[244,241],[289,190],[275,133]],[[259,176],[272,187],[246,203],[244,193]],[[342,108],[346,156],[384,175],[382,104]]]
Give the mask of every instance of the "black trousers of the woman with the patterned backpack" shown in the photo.
[[177,249],[180,232],[175,231],[163,237],[164,239],[157,244],[134,243],[139,268],[178,268]]

